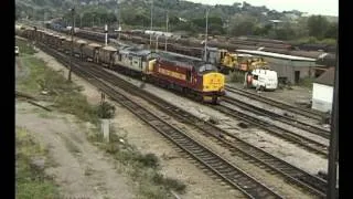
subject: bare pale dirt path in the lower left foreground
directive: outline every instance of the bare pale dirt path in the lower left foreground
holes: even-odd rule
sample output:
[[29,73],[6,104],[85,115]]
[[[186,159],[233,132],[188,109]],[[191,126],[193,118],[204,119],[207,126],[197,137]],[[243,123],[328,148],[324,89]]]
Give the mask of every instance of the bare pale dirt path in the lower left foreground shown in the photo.
[[49,168],[67,197],[133,198],[129,180],[118,174],[109,158],[93,146],[74,116],[44,113],[17,103],[17,126],[24,127],[50,148],[56,167]]

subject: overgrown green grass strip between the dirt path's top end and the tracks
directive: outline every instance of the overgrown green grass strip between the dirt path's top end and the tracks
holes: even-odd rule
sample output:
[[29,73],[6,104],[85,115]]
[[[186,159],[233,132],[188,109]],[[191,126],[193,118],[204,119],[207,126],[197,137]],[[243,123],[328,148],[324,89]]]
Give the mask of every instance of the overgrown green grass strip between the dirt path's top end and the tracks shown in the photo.
[[30,74],[19,81],[17,85],[19,91],[38,96],[42,91],[46,91],[45,101],[54,103],[61,112],[76,115],[79,119],[93,124],[98,123],[97,108],[81,94],[82,87],[67,82],[58,72],[45,66],[42,60],[30,56],[23,59],[23,63]]

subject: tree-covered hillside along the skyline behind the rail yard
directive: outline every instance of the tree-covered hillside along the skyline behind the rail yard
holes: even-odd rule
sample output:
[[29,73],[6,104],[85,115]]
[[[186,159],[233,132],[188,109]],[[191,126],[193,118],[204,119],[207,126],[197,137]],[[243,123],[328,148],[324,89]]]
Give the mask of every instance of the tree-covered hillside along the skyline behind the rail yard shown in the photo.
[[[78,27],[103,27],[108,23],[124,29],[150,29],[151,0],[15,0],[17,18],[43,21],[63,18],[63,24],[72,21],[69,9],[76,4]],[[34,9],[33,9],[34,8]],[[256,35],[277,40],[313,41],[336,38],[334,18],[311,20],[297,10],[278,12],[266,6],[255,7],[247,2],[232,6],[206,6],[182,0],[153,0],[153,29],[165,30],[167,13],[169,31],[186,31],[196,35],[205,32],[205,11],[210,9],[208,33],[212,35]],[[309,38],[310,36],[310,38]],[[315,38],[315,39],[314,39]],[[317,40],[318,39],[318,40]],[[334,43],[334,40],[325,40]]]

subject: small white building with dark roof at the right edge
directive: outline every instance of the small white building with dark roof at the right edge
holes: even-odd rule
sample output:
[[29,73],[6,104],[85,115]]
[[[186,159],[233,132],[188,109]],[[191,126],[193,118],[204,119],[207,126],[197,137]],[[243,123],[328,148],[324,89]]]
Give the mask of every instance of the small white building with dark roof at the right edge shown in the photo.
[[332,109],[334,67],[330,67],[312,84],[312,109],[328,112]]

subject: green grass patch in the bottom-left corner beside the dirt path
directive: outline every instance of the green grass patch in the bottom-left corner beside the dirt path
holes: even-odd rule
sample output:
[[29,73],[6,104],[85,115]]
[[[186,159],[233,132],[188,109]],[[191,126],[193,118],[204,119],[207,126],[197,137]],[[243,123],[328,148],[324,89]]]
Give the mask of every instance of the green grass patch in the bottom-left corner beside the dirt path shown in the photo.
[[[47,150],[24,128],[15,128],[15,198],[55,198],[57,186],[44,174],[49,164]],[[44,159],[44,164],[34,164]]]

